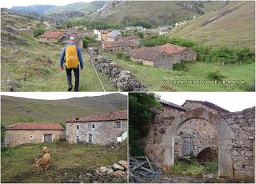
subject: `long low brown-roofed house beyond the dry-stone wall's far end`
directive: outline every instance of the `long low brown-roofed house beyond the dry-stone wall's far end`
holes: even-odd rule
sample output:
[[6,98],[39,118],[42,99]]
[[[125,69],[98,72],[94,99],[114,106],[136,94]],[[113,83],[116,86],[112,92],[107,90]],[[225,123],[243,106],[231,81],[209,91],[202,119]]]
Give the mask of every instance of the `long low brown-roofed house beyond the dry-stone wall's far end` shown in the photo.
[[102,49],[103,50],[110,50],[112,51],[122,51],[128,52],[130,50],[134,50],[137,48],[137,41],[136,40],[128,40],[128,41],[114,41],[114,42],[103,42]]

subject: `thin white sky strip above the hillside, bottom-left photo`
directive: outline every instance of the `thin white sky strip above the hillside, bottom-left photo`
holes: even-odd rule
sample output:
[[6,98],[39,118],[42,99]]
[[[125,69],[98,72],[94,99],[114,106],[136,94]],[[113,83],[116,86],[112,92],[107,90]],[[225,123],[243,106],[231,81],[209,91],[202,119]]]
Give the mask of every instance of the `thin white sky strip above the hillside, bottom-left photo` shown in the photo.
[[[128,93],[125,92],[118,92],[119,94]],[[67,99],[67,98],[74,98],[74,97],[92,97],[92,96],[101,96],[104,94],[111,94],[106,92],[2,92],[1,95],[6,96],[14,96],[14,97],[23,97],[23,98],[34,98],[34,99],[45,99],[45,100],[56,100],[56,99]]]

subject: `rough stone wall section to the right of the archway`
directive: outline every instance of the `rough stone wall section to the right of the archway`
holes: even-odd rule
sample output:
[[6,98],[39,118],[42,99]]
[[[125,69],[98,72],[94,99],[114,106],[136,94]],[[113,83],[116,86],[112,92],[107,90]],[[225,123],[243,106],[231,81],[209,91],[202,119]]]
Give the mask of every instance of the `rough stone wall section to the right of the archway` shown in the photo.
[[255,170],[255,107],[241,112],[221,114],[234,133],[231,158],[234,176],[253,177]]

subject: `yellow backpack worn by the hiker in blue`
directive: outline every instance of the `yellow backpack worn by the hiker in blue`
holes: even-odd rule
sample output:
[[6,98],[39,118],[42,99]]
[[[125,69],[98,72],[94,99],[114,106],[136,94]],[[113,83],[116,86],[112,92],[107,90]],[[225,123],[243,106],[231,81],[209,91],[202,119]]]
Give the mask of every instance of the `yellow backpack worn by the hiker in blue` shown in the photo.
[[66,46],[66,62],[68,69],[78,67],[78,51],[76,46]]

